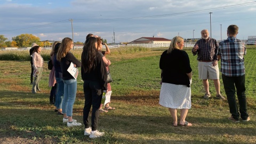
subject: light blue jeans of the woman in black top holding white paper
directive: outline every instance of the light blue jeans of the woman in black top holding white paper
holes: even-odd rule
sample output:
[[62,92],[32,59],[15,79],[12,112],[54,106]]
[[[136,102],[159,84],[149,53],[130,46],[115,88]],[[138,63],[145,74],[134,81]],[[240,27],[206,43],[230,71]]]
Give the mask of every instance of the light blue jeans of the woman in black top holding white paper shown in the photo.
[[73,105],[76,100],[76,89],[77,82],[76,79],[64,80],[64,97],[62,100],[62,113],[67,114],[67,116],[73,115]]

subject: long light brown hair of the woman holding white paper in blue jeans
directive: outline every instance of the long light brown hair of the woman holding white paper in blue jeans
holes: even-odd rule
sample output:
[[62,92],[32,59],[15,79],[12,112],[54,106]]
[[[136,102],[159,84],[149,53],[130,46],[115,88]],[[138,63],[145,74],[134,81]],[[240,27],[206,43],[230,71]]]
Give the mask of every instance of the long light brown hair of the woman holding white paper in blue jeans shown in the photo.
[[58,53],[57,53],[58,61],[61,61],[61,58],[66,57],[67,53],[71,50],[72,43],[73,43],[73,41],[69,37],[65,37],[62,39]]

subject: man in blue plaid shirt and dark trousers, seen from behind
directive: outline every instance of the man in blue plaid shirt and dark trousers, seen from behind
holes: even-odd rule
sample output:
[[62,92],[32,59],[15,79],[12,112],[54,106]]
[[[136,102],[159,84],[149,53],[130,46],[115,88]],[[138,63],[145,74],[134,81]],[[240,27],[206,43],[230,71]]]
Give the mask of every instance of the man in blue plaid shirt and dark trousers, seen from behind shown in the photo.
[[[246,54],[246,47],[241,40],[236,38],[237,34],[238,27],[230,25],[227,30],[228,39],[219,43],[217,55],[221,59],[222,81],[231,113],[231,117],[228,119],[239,122],[241,114],[242,121],[247,122],[250,121],[250,117],[247,113],[245,96],[244,55]],[[238,97],[239,111],[235,92]]]

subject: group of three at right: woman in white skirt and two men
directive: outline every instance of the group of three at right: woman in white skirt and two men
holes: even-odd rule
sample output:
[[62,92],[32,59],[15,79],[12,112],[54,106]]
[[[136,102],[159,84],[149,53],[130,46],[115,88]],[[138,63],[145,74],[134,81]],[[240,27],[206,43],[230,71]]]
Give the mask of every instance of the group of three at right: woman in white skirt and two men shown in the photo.
[[[246,47],[240,39],[236,38],[237,34],[238,27],[230,25],[227,28],[228,38],[218,44],[214,38],[209,37],[209,31],[203,29],[202,38],[192,49],[193,55],[197,54],[198,75],[205,89],[204,99],[211,98],[208,79],[212,79],[217,93],[215,98],[226,100],[220,93],[218,61],[221,60],[222,81],[231,113],[228,119],[236,123],[239,122],[240,117],[243,122],[250,121],[245,95]],[[192,126],[186,121],[188,109],[191,108],[192,69],[188,54],[182,50],[183,46],[184,39],[180,36],[174,37],[169,49],[163,52],[159,61],[159,67],[162,70],[159,104],[169,108],[173,126]],[[177,109],[180,109],[179,123]]]

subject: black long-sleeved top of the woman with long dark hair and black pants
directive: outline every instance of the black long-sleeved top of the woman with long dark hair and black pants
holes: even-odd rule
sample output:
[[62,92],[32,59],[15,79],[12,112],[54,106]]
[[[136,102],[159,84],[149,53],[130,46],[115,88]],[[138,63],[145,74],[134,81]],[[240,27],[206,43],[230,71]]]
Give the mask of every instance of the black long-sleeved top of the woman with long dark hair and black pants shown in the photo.
[[105,66],[105,63],[103,62],[102,56],[100,52],[96,53],[96,58],[95,58],[95,68],[91,69],[90,73],[84,73],[84,68],[83,66],[81,67],[81,74],[82,74],[82,79],[84,81],[89,80],[89,81],[98,81],[100,85],[102,86],[103,90],[107,90],[107,69]]

